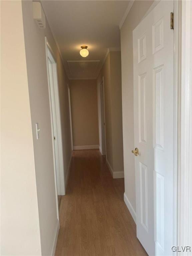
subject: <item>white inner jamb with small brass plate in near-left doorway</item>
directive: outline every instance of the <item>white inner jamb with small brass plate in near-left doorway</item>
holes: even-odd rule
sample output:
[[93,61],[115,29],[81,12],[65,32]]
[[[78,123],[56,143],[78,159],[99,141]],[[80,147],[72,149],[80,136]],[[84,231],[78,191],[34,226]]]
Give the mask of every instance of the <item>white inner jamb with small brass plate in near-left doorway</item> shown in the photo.
[[60,170],[59,170],[59,148],[58,148],[58,134],[57,134],[57,116],[55,106],[55,92],[54,92],[54,81],[53,81],[53,63],[50,59],[50,52],[48,52],[48,68],[49,68],[49,86],[51,96],[51,114],[53,122],[53,135],[54,135],[54,153],[55,153],[55,168],[56,168],[56,180],[57,180],[57,194],[61,195],[60,185]]

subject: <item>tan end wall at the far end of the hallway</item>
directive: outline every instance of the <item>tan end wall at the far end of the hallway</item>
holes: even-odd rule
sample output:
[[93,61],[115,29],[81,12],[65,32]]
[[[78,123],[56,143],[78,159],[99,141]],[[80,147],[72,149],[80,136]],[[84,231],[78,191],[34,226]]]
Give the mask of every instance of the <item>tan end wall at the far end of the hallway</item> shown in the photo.
[[73,146],[99,145],[97,82],[70,80]]

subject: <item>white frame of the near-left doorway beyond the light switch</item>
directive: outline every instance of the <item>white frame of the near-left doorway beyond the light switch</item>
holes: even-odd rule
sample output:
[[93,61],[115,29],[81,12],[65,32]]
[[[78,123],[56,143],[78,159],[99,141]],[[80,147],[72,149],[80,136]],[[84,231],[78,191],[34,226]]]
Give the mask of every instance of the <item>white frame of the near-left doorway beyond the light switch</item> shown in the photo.
[[[53,145],[53,157],[54,157],[54,176],[55,176],[55,186],[57,195],[65,195],[65,177],[64,177],[64,163],[63,163],[63,145],[62,145],[62,130],[61,130],[61,115],[60,115],[60,103],[59,103],[59,90],[58,90],[58,79],[57,79],[57,63],[54,58],[53,51],[45,37],[45,48],[46,48],[46,62],[47,62],[47,78],[48,84],[49,82],[49,65],[48,65],[48,57],[52,62],[53,68],[53,88],[52,90],[49,88],[49,103],[50,103],[50,113],[51,113],[51,132],[52,132],[52,145]],[[55,147],[54,147],[54,132],[53,132],[53,117],[52,117],[52,106],[51,100],[55,101],[55,109],[56,109],[56,123],[54,126],[56,127],[57,133],[57,145],[58,145],[58,167],[59,167],[59,183],[60,188],[57,188],[57,176],[56,176],[56,165],[55,165]],[[57,191],[59,189],[59,191]],[[56,197],[57,197],[56,195]],[[58,201],[58,199],[57,199]],[[58,204],[58,203],[57,203]]]

